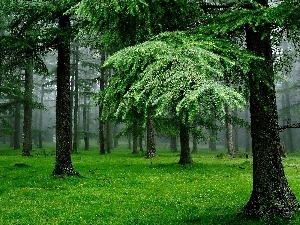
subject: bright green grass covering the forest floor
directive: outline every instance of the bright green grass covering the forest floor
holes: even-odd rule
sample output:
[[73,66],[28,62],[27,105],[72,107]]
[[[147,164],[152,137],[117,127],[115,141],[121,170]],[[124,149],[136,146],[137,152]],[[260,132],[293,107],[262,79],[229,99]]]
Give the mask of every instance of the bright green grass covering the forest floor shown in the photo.
[[[249,199],[252,162],[209,151],[194,163],[159,150],[152,161],[129,150],[72,155],[82,177],[52,177],[53,149],[22,157],[0,150],[0,224],[280,224],[237,216]],[[123,148],[124,149],[124,148]],[[39,150],[40,151],[40,150]],[[300,197],[300,155],[284,159],[291,188]],[[282,224],[300,224],[300,215]]]

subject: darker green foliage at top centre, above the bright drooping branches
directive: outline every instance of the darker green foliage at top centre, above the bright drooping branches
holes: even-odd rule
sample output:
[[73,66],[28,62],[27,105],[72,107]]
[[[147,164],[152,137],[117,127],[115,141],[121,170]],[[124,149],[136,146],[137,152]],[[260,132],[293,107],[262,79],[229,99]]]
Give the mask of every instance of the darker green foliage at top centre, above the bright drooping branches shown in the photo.
[[202,13],[196,2],[188,0],[82,0],[74,10],[84,21],[83,35],[110,52],[163,31],[184,30]]

